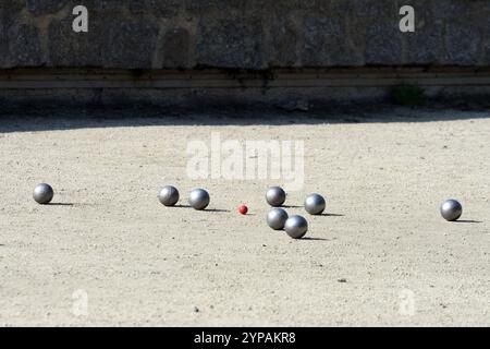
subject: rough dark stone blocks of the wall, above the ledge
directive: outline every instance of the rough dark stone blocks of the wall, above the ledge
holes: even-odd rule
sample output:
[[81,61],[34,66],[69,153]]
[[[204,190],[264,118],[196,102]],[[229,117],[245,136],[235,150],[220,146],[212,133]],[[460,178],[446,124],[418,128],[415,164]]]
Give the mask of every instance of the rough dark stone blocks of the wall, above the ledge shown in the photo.
[[490,65],[489,0],[1,0],[0,21],[0,69]]

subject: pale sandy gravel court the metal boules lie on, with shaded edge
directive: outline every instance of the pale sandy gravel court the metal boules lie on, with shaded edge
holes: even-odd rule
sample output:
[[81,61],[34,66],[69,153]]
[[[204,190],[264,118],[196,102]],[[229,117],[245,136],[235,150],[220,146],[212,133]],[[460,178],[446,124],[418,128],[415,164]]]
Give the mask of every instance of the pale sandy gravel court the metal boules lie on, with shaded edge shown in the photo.
[[[1,117],[0,324],[490,325],[489,111],[268,118]],[[191,180],[186,146],[211,132],[304,140],[287,204],[320,192],[331,215],[287,208],[309,221],[292,240],[265,222],[281,180]],[[44,181],[54,205],[32,200]],[[211,210],[163,207],[169,183],[183,204],[208,189]],[[440,217],[450,197],[461,222]]]

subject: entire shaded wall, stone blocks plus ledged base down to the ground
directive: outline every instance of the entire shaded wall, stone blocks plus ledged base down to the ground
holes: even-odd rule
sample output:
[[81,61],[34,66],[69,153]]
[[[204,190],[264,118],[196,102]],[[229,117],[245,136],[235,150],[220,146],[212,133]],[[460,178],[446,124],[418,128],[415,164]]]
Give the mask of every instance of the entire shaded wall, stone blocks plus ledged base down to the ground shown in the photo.
[[488,0],[2,0],[0,21],[2,103],[490,95]]

